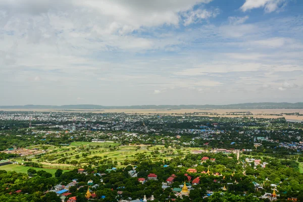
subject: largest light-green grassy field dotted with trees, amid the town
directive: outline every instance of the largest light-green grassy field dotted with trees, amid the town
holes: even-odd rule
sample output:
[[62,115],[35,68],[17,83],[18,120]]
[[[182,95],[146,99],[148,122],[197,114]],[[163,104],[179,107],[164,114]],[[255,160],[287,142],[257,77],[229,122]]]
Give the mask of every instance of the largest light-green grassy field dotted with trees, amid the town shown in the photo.
[[[40,147],[40,145],[34,145],[33,147]],[[153,145],[148,147],[148,145],[120,145],[119,143],[112,142],[72,142],[68,146],[51,146],[48,148],[46,154],[41,158],[31,158],[32,162],[37,162],[42,164],[45,169],[55,171],[56,169],[74,169],[77,166],[87,165],[86,159],[91,159],[93,157],[101,157],[103,159],[110,159],[112,162],[117,162],[118,167],[124,166],[125,161],[131,162],[138,158],[139,154],[144,154],[147,158],[152,161],[170,160],[175,157],[183,157],[189,154],[191,150],[198,148],[181,147],[177,150],[175,148],[165,148],[164,145]],[[157,150],[157,155],[154,152]],[[61,159],[67,159],[66,162],[71,162],[73,160],[78,162],[78,165],[66,164],[61,161]],[[99,159],[100,160],[100,159]],[[96,160],[96,161],[99,161]],[[22,163],[21,158],[16,158],[19,164]],[[13,166],[14,167],[14,166]],[[14,169],[22,169],[17,168]],[[27,171],[27,170],[26,170]]]

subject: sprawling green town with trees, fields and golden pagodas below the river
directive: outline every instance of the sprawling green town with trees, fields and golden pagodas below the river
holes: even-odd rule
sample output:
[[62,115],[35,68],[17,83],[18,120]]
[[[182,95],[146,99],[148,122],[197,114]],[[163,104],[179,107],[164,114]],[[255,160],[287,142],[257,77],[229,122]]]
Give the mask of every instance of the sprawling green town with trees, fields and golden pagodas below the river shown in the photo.
[[46,180],[35,196],[44,201],[300,201],[302,126],[284,118],[0,112],[3,197],[39,201],[26,184]]

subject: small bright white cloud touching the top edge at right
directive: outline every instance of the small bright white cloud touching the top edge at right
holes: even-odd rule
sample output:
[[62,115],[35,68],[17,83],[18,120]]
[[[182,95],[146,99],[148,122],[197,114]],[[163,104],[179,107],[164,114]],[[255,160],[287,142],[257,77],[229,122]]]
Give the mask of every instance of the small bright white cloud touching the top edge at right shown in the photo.
[[279,9],[279,7],[284,7],[287,4],[287,0],[246,0],[241,6],[243,12],[256,8],[264,8],[265,12],[271,13]]

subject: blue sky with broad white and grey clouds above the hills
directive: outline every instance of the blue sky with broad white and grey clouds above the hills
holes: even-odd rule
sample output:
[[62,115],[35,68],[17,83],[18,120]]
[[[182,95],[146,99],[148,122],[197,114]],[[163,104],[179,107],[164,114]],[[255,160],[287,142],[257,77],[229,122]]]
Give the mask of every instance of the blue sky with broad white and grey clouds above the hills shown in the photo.
[[0,0],[0,106],[303,102],[301,0]]

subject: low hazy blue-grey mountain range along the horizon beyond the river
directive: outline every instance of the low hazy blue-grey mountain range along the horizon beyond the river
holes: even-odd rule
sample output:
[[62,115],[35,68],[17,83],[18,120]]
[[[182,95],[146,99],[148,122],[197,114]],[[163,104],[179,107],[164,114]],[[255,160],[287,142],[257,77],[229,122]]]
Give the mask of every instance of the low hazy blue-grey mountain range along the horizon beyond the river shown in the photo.
[[243,103],[232,105],[24,105],[0,106],[0,109],[61,109],[61,110],[108,110],[108,109],[303,109],[303,103]]

